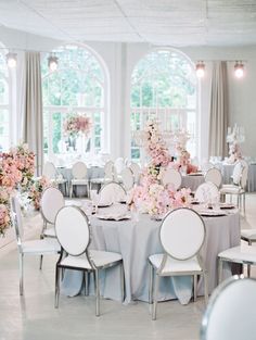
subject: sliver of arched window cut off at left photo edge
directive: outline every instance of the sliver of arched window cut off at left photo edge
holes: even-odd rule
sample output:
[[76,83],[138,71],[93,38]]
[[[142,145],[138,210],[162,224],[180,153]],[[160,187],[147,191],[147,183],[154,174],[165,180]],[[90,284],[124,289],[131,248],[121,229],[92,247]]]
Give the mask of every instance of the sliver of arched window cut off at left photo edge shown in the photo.
[[5,55],[0,52],[0,152],[10,148],[9,79]]

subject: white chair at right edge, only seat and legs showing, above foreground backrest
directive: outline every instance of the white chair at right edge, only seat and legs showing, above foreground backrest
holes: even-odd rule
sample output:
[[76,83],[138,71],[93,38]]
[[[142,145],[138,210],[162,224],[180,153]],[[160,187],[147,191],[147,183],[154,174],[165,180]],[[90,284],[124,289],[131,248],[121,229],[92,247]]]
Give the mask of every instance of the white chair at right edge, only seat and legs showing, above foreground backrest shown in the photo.
[[[223,262],[256,265],[256,248],[247,244],[229,248],[218,254],[218,281],[222,279]],[[248,276],[249,276],[248,270]]]

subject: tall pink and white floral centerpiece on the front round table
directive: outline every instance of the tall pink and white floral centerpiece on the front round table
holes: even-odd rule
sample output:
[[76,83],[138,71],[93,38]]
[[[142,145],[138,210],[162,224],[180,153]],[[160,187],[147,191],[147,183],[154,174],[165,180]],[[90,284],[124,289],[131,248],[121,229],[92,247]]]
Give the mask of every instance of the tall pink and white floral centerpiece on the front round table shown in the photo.
[[174,162],[156,121],[148,122],[143,131],[143,146],[151,162],[143,169],[141,184],[129,193],[130,207],[152,216],[163,216],[171,209],[189,206],[190,189],[176,191],[171,186],[164,187],[161,182],[163,172]]

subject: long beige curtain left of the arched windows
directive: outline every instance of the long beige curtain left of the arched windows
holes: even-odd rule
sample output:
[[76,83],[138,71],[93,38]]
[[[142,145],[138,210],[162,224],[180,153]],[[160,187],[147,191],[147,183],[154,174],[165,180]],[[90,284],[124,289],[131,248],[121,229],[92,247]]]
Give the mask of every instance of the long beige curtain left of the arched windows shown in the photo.
[[39,52],[26,52],[23,74],[23,140],[36,153],[36,173],[43,162],[42,90]]

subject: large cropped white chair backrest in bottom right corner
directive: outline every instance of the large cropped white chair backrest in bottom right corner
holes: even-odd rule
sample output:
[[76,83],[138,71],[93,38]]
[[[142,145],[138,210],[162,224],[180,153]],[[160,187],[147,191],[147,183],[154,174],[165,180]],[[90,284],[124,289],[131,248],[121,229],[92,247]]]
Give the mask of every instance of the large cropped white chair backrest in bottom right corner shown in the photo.
[[256,280],[233,276],[216,288],[203,316],[201,340],[254,340]]

